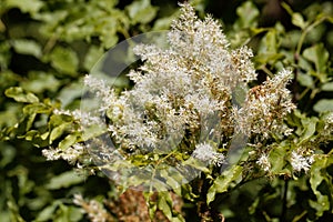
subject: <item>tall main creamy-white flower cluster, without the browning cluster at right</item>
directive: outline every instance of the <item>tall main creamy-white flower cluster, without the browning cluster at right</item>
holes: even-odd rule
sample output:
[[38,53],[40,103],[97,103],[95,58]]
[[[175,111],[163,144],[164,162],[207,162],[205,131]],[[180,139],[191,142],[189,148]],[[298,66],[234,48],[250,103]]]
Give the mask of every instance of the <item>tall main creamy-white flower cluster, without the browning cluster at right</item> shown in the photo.
[[199,20],[189,4],[182,7],[168,40],[167,50],[134,49],[144,64],[129,73],[135,85],[119,98],[92,77],[84,80],[98,97],[105,98],[101,107],[109,108],[109,131],[121,147],[170,150],[188,137],[193,151],[195,134],[211,131],[204,128],[211,128],[208,122],[214,117],[220,118],[214,124],[221,131],[232,133],[232,92],[256,77],[251,50],[229,49],[219,22],[211,17]]

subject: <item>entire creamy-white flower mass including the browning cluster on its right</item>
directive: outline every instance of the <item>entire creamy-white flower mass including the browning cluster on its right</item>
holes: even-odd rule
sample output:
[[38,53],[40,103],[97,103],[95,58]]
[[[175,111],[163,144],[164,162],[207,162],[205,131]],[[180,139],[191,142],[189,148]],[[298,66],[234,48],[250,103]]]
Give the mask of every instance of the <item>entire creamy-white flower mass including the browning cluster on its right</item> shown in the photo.
[[256,78],[252,51],[230,49],[211,17],[199,20],[189,4],[181,10],[168,34],[169,49],[144,44],[134,49],[144,64],[129,73],[133,89],[118,97],[104,82],[91,75],[84,80],[101,98],[115,143],[139,153],[186,147],[186,153],[221,164],[222,155],[202,135],[224,144],[236,131],[265,139],[271,133],[290,133],[282,120],[295,108],[285,88],[291,71],[249,90],[243,108],[233,107],[234,90],[245,89]]

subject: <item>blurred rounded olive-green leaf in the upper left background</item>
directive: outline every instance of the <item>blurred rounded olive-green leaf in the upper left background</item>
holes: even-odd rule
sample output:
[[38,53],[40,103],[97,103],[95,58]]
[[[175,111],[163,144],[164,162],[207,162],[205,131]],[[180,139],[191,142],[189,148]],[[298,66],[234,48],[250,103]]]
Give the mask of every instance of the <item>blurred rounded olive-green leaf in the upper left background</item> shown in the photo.
[[70,48],[57,47],[50,54],[50,61],[54,69],[68,74],[77,74],[79,59]]

